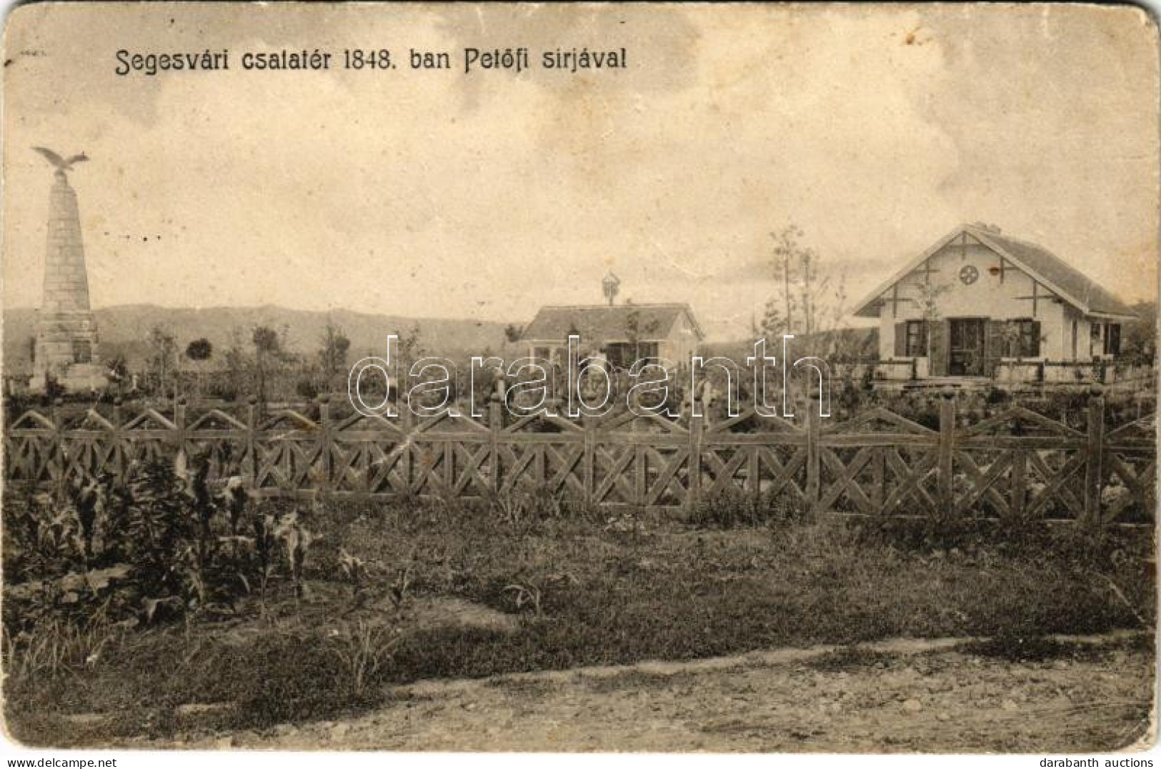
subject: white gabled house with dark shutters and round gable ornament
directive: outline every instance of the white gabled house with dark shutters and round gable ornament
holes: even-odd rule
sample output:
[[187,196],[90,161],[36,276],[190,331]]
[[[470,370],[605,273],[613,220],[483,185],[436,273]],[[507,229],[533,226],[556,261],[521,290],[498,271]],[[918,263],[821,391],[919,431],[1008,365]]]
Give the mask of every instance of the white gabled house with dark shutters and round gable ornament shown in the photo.
[[[964,225],[854,308],[879,321],[889,379],[1093,379],[1135,314],[1047,249]],[[1096,366],[1094,366],[1094,362]]]

